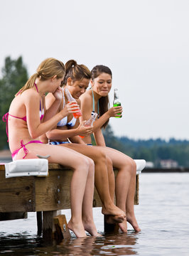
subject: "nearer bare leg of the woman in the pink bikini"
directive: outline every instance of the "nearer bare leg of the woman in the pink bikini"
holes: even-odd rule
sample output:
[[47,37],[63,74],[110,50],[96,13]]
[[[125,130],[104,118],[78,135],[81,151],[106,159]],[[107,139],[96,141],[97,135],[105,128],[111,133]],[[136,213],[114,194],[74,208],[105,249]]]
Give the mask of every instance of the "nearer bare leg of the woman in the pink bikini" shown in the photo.
[[[71,219],[68,228],[72,230],[77,238],[85,237],[85,228],[82,224],[82,201],[89,173],[90,161],[87,157],[71,149],[62,146],[53,146],[48,144],[28,144],[28,154],[26,159],[37,158],[36,154],[50,154],[49,163],[63,164],[71,167],[74,172],[70,183],[70,204]],[[23,149],[18,152],[17,159],[22,159]]]

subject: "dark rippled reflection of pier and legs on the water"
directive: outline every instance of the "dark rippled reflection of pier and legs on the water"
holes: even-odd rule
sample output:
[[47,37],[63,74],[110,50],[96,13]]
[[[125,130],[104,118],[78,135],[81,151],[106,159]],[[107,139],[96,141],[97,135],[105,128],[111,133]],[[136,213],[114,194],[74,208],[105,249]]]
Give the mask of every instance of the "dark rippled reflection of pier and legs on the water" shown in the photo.
[[100,238],[71,238],[45,245],[41,238],[14,234],[1,238],[0,255],[136,255],[133,247],[136,239],[135,233],[129,233],[103,235]]

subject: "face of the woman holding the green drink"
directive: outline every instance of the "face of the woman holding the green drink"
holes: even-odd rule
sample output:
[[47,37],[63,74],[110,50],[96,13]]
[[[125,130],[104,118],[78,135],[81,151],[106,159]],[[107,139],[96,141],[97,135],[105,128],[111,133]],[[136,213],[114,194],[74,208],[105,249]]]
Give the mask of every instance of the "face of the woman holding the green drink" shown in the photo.
[[107,73],[101,73],[97,78],[91,81],[92,90],[97,92],[101,97],[109,94],[112,88],[112,77]]

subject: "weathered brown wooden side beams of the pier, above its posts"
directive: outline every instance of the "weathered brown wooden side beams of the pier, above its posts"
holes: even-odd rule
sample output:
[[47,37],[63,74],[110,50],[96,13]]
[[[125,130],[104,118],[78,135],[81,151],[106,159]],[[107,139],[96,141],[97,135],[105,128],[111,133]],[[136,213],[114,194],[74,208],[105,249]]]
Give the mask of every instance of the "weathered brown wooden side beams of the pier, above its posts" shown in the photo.
[[[0,170],[0,212],[46,211],[70,208],[72,170],[59,164],[49,164],[47,177],[25,176],[5,178]],[[117,170],[114,170],[117,176]],[[136,175],[135,204],[139,204],[139,175]],[[97,190],[93,207],[101,207]]]

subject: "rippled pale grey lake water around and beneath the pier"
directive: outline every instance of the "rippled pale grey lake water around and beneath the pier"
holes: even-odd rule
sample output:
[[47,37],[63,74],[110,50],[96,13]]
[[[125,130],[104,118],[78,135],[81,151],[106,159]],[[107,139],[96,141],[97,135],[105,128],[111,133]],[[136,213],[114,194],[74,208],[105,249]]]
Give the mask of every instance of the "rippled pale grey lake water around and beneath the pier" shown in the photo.
[[[28,219],[0,222],[1,255],[189,255],[189,173],[140,174],[140,204],[135,206],[141,228],[134,233],[104,235],[103,215],[94,209],[102,238],[63,240],[46,246],[37,236],[36,213]],[[70,210],[63,210],[70,218]]]

